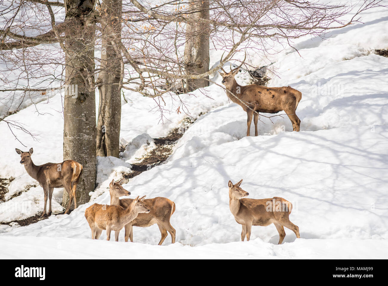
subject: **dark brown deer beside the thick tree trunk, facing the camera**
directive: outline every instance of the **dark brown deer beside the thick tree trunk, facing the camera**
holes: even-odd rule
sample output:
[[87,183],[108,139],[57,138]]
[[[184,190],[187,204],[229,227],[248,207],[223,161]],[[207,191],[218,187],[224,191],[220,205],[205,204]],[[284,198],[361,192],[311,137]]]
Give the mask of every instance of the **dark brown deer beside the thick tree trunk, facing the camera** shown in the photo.
[[15,148],[16,153],[21,157],[20,164],[24,165],[27,173],[38,181],[39,185],[43,188],[45,193],[45,206],[43,209],[42,217],[47,216],[47,196],[49,197],[49,214],[51,215],[51,197],[54,188],[65,188],[68,192],[70,201],[66,208],[65,214],[69,213],[71,202],[74,197],[74,208],[77,208],[76,190],[77,184],[80,180],[82,173],[82,165],[74,160],[66,160],[62,163],[46,163],[40,166],[36,166],[31,159],[33,149],[29,149],[28,152],[23,152]]

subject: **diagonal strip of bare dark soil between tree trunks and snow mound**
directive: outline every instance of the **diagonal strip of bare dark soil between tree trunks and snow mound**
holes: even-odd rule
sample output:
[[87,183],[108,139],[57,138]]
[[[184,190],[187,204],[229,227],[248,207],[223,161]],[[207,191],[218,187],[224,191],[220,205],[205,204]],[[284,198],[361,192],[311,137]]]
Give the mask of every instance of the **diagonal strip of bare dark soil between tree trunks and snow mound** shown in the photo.
[[[133,178],[144,171],[152,169],[155,166],[163,164],[167,160],[168,156],[172,153],[172,147],[175,142],[182,137],[183,132],[180,132],[180,128],[173,129],[166,137],[153,138],[156,148],[154,148],[144,159],[137,164],[132,165],[131,173],[123,174],[124,178]],[[124,148],[125,149],[125,148]]]

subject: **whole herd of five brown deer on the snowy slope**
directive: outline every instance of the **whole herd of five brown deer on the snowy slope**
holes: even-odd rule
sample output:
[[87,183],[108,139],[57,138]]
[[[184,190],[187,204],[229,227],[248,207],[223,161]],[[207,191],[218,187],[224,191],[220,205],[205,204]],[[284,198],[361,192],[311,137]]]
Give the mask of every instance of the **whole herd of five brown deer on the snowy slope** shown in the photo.
[[[245,58],[244,58],[245,60]],[[242,61],[244,63],[244,61]],[[223,68],[222,84],[225,85],[228,98],[242,106],[248,115],[247,136],[251,126],[252,116],[255,124],[255,136],[258,135],[258,112],[277,113],[286,112],[293,125],[293,131],[300,130],[300,119],[295,110],[301,99],[301,92],[291,87],[265,87],[255,84],[241,86],[237,84],[234,76],[239,72],[242,64],[237,68],[230,68],[225,72]],[[65,160],[62,163],[46,163],[36,166],[31,155],[33,149],[22,152],[16,148],[20,155],[20,163],[24,165],[27,173],[38,181],[44,192],[44,208],[42,216],[51,215],[51,199],[54,188],[64,188],[68,192],[70,200],[65,214],[70,211],[71,202],[74,199],[74,207],[77,208],[76,188],[82,174],[82,165],[74,160]],[[135,199],[120,199],[131,195],[121,185],[124,179],[109,183],[110,204],[92,204],[85,210],[85,218],[92,231],[92,239],[99,239],[102,230],[106,230],[107,241],[110,240],[111,231],[114,230],[115,240],[118,241],[121,229],[125,229],[125,242],[128,238],[133,242],[133,226],[149,227],[157,224],[161,233],[159,245],[165,241],[167,232],[171,235],[171,243],[175,243],[175,228],[170,223],[170,218],[175,211],[175,203],[165,197],[145,199],[145,195]],[[251,227],[253,225],[267,226],[274,224],[279,232],[279,244],[282,243],[286,233],[284,227],[292,230],[299,238],[299,228],[289,220],[292,204],[281,197],[268,199],[249,199],[249,193],[240,185],[241,181],[233,184],[228,182],[229,209],[237,223],[241,224],[241,241],[245,237],[249,241]],[[47,198],[49,198],[49,212],[46,212]],[[281,205],[281,208],[277,206]]]

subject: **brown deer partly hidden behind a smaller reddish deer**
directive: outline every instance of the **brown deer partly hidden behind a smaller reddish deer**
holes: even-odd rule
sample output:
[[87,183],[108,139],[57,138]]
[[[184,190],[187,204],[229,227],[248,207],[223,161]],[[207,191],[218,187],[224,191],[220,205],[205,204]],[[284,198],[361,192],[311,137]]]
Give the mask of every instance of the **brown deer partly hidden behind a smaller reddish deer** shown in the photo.
[[[120,186],[122,182],[123,179],[116,183],[112,180],[109,184],[109,192],[111,194],[111,205],[126,208],[132,203],[133,199],[119,199],[124,195],[131,194]],[[146,199],[144,202],[147,203],[151,211],[149,213],[139,213],[137,218],[125,225],[125,241],[128,241],[129,237],[130,241],[133,242],[133,226],[149,227],[156,223],[162,235],[158,245],[162,245],[165,241],[167,231],[171,235],[171,243],[175,243],[175,228],[170,223],[170,218],[175,211],[175,203],[165,197]]]

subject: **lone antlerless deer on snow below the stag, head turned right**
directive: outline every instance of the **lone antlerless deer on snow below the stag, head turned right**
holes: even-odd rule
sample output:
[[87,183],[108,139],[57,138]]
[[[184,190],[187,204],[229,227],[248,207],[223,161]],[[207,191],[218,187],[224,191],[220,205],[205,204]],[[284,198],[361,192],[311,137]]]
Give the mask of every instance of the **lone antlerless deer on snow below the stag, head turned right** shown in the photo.
[[[241,241],[244,241],[245,235],[247,241],[251,236],[252,225],[261,225],[266,227],[273,223],[279,232],[279,244],[282,243],[286,232],[284,227],[295,232],[296,237],[300,238],[299,227],[294,225],[288,218],[291,213],[292,204],[281,197],[271,199],[242,199],[249,195],[240,188],[241,181],[233,185],[231,181],[229,187],[229,208],[234,215],[237,223],[242,225]],[[280,208],[279,208],[280,207]]]

